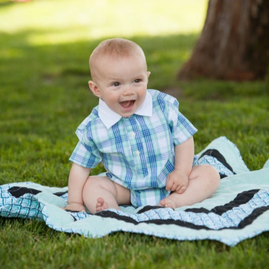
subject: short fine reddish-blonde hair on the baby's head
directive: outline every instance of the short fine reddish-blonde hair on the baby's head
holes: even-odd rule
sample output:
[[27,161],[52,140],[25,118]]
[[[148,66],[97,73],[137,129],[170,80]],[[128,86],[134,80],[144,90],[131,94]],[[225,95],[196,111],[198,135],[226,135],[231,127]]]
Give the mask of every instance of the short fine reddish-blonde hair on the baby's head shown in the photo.
[[140,55],[145,59],[142,48],[135,42],[124,38],[112,38],[102,41],[91,53],[89,59],[90,73],[94,80],[98,60],[102,57],[124,58],[132,55]]

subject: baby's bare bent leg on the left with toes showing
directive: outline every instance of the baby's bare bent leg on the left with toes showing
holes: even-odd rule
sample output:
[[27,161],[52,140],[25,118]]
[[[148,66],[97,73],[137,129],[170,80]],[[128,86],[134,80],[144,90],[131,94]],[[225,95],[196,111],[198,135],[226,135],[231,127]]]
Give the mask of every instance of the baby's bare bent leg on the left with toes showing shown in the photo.
[[130,204],[130,190],[106,176],[88,177],[82,197],[91,213],[107,208],[120,209],[120,204]]

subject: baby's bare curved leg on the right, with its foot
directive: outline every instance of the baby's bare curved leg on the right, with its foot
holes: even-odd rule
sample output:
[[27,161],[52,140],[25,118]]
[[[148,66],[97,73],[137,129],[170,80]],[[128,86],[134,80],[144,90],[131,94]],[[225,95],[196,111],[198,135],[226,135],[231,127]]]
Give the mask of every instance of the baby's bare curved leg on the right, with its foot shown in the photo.
[[209,165],[194,166],[185,192],[182,194],[171,193],[160,201],[160,205],[176,208],[201,202],[216,192],[219,185],[220,175],[214,167]]

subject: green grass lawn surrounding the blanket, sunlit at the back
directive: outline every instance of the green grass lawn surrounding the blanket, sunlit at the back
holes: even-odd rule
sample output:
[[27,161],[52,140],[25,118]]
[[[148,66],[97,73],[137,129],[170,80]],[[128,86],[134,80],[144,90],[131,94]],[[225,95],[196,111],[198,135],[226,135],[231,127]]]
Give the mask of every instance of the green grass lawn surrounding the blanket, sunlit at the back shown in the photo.
[[[227,136],[250,170],[269,157],[268,80],[176,80],[199,36],[206,0],[0,1],[0,184],[66,186],[78,124],[97,104],[88,57],[103,39],[144,49],[149,88],[172,93],[198,128],[196,152]],[[98,166],[91,173],[99,173]],[[235,247],[114,233],[59,233],[35,220],[0,218],[1,268],[268,268],[269,233]]]

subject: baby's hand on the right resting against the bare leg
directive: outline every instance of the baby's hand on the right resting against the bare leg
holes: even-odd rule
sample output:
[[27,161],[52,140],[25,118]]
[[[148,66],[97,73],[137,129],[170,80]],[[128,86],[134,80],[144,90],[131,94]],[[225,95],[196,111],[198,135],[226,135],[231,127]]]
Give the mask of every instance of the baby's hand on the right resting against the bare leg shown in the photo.
[[189,177],[182,170],[174,170],[167,176],[166,190],[176,191],[183,193],[189,183]]

